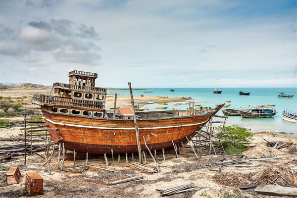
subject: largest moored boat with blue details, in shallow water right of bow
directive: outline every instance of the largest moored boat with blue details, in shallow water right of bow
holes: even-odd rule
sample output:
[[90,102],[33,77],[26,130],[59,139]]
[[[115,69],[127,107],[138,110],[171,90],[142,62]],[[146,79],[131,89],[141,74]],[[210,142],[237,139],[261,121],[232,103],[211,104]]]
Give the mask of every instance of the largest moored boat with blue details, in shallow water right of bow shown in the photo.
[[249,105],[248,109],[239,112],[243,118],[269,118],[277,113],[274,108],[266,105]]

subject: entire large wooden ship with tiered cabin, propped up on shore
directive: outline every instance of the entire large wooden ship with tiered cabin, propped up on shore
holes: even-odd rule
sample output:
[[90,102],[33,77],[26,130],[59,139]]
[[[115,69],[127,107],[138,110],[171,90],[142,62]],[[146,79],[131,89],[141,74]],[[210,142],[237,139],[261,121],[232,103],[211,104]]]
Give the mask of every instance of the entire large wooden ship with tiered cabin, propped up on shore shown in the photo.
[[[207,111],[141,111],[133,116],[105,110],[106,89],[95,87],[96,73],[71,71],[69,84],[53,83],[49,95],[35,94],[32,103],[41,106],[51,140],[80,153],[131,153],[173,148],[217,113],[223,104]],[[136,133],[138,126],[139,136]]]

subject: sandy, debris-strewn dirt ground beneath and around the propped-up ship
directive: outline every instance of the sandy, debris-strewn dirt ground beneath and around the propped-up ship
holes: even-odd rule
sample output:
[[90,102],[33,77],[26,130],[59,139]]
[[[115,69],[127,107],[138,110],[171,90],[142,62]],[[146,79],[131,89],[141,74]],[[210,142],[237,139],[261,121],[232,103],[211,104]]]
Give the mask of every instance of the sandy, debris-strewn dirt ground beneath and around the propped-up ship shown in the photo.
[[[15,145],[23,143],[23,132],[21,127],[0,129],[1,146]],[[267,141],[284,141],[294,143],[288,148],[276,149],[267,147],[264,139]],[[29,141],[30,143],[30,141]],[[33,145],[45,144],[44,142],[34,141]],[[191,147],[186,147],[188,158],[185,155],[185,150],[181,151],[178,158],[174,153],[166,153],[166,161],[163,161],[162,153],[157,153],[156,161],[160,166],[160,172],[148,174],[141,172],[131,167],[126,167],[125,156],[121,155],[120,162],[117,156],[114,157],[112,164],[111,156],[108,156],[109,166],[106,166],[103,156],[95,159],[89,159],[88,165],[108,168],[111,170],[120,171],[121,173],[106,171],[98,168],[90,167],[88,170],[80,173],[78,170],[65,173],[59,173],[57,168],[57,157],[54,157],[50,162],[51,174],[48,173],[47,166],[43,166],[45,160],[37,155],[27,156],[27,164],[24,165],[24,156],[13,156],[9,160],[0,162],[0,181],[5,179],[7,168],[10,166],[18,166],[22,177],[18,184],[6,185],[5,182],[0,185],[0,197],[17,198],[28,197],[25,191],[26,172],[38,172],[44,178],[44,194],[39,197],[44,198],[157,198],[161,197],[156,191],[159,188],[166,188],[182,184],[187,181],[192,181],[197,186],[203,186],[200,191],[189,193],[191,198],[216,198],[226,195],[241,196],[242,198],[264,197],[259,196],[254,192],[254,188],[241,190],[243,187],[251,187],[259,184],[269,184],[269,180],[274,180],[278,175],[282,175],[288,182],[292,184],[291,168],[297,170],[297,137],[293,134],[276,134],[276,133],[258,133],[253,136],[251,148],[248,148],[244,154],[248,158],[275,157],[281,156],[281,159],[273,159],[268,161],[249,161],[252,162],[252,167],[232,167],[222,166],[222,171],[219,173],[218,167],[207,165],[219,160],[229,160],[242,157],[244,162],[248,162],[242,155],[226,155],[212,154],[209,156],[206,151],[199,150],[202,157],[196,158]],[[44,153],[41,151],[39,153]],[[137,154],[135,153],[135,160]],[[288,164],[286,162],[295,159]],[[129,163],[132,162],[131,155],[128,157]],[[65,161],[64,168],[74,166],[84,166],[86,160]],[[147,158],[147,164],[150,167],[155,167],[150,156]],[[211,170],[210,170],[211,169]],[[108,185],[106,182],[124,178],[127,176],[142,175],[144,179],[121,183],[117,185]],[[295,173],[297,178],[297,174]],[[279,179],[276,183],[281,184],[283,180]],[[295,180],[295,185],[297,182]],[[284,186],[284,185],[283,185]],[[170,198],[183,198],[185,194],[177,194],[168,196]]]

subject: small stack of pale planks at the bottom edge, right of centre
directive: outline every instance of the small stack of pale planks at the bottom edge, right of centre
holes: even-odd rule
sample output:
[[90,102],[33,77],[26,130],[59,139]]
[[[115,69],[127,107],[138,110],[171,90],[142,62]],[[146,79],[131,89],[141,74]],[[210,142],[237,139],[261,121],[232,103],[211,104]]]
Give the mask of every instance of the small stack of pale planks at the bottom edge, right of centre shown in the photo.
[[199,187],[195,186],[192,182],[187,182],[182,185],[177,185],[174,187],[164,188],[164,189],[156,189],[157,191],[160,191],[161,196],[169,196],[173,194],[178,193],[184,193],[184,192],[191,192],[191,191],[198,191],[205,187]]

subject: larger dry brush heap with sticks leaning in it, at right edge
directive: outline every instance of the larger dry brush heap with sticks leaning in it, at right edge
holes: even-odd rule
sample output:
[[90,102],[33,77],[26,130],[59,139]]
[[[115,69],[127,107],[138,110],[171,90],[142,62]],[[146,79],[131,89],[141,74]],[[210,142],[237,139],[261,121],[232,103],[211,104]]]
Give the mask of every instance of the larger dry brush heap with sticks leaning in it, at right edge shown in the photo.
[[[252,176],[252,180],[254,180],[255,185],[260,184],[271,184],[270,181],[275,180],[279,175],[284,177],[290,184],[292,184],[292,172],[289,167],[283,167],[283,166],[275,166],[272,168],[268,168],[266,170],[263,170],[254,176]],[[296,177],[296,176],[295,176]],[[282,178],[278,178],[274,183],[281,185],[285,180]],[[283,183],[281,186],[290,186],[287,183]]]

